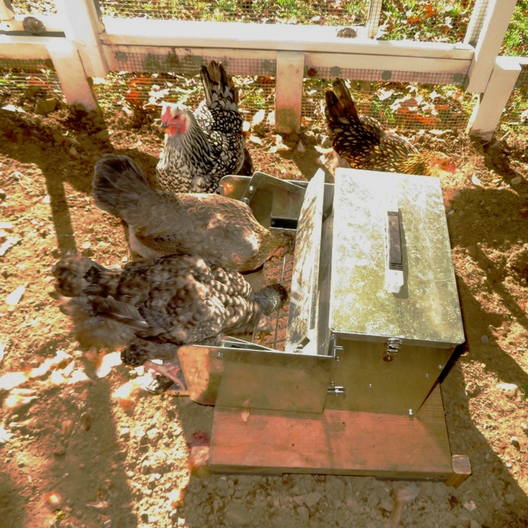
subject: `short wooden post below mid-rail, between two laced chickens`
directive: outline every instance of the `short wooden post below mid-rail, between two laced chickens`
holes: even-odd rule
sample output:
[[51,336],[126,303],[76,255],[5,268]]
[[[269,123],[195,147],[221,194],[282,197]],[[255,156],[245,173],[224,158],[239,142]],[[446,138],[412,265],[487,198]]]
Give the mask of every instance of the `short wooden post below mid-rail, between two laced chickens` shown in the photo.
[[303,78],[304,54],[279,51],[275,86],[275,126],[278,132],[291,134],[301,127]]

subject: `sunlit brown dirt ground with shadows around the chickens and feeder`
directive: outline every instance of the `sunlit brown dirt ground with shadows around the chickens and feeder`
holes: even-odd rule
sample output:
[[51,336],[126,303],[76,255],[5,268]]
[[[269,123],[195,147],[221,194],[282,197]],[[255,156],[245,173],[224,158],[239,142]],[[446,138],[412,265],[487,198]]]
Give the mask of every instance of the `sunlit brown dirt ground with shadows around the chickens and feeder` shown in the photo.
[[[68,251],[102,264],[126,260],[120,222],[90,196],[93,166],[116,151],[151,170],[162,138],[142,116],[102,118],[71,108],[37,115],[31,96],[15,103],[25,112],[0,110],[0,526],[384,527],[401,483],[190,477],[189,452],[210,433],[213,408],[146,391],[120,397],[141,369],[118,364],[106,375],[96,372],[49,296],[51,268]],[[285,137],[279,149],[270,149],[277,141],[264,132],[260,144],[249,142],[256,168],[313,176],[321,156],[315,146],[328,146],[324,131]],[[472,476],[457,489],[417,482],[401,525],[524,527],[526,144],[510,136],[482,146],[460,132],[411,139],[452,153],[458,165],[442,184],[467,341],[455,351],[442,391],[452,452],[470,457]]]

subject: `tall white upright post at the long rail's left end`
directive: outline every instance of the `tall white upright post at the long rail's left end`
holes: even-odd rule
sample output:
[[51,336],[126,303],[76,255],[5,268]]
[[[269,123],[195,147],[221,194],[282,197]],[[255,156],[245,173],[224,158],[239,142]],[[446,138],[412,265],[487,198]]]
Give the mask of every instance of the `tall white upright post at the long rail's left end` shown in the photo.
[[79,50],[87,77],[105,77],[108,65],[101,33],[104,26],[99,20],[93,0],[56,0],[57,11],[66,21],[66,38]]

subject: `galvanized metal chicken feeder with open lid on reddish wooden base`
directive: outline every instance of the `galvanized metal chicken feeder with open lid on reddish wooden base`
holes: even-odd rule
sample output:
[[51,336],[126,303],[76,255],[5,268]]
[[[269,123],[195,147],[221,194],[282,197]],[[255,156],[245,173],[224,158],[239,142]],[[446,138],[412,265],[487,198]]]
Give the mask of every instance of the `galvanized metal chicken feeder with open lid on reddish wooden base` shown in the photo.
[[[439,386],[464,341],[439,180],[256,172],[222,189],[296,245],[281,339],[178,351],[191,398],[215,406],[211,470],[463,482]],[[258,288],[263,275],[246,278]]]

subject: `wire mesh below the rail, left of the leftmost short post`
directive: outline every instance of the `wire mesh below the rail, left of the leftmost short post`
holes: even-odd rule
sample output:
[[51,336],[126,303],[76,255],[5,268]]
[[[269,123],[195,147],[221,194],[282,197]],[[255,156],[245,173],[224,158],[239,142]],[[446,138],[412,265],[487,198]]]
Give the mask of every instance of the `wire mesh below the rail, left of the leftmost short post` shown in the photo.
[[0,103],[20,104],[36,95],[64,100],[53,63],[49,59],[0,58]]

